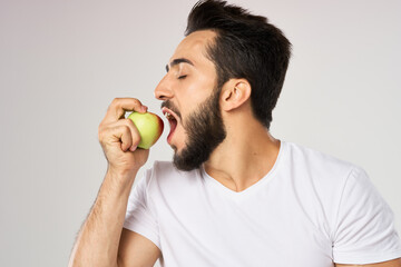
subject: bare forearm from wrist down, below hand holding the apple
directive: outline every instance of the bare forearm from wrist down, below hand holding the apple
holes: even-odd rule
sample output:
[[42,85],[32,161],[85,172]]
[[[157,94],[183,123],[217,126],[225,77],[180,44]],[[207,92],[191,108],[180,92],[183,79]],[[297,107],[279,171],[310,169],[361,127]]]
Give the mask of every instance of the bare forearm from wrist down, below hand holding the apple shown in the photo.
[[108,171],[75,244],[70,267],[115,267],[136,171],[129,178]]

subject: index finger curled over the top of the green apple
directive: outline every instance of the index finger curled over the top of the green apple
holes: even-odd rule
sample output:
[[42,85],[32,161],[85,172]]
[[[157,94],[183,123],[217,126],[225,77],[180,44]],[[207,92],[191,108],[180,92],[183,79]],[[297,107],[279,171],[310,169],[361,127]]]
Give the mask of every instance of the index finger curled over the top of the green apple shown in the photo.
[[125,118],[126,111],[146,112],[147,107],[136,98],[115,98],[107,109],[102,123]]

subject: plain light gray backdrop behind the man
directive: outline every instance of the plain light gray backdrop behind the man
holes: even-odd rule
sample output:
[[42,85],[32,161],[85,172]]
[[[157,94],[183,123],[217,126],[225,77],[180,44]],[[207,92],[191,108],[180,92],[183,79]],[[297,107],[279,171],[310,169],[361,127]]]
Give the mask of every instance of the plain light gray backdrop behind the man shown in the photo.
[[[232,1],[292,41],[272,134],[362,166],[401,229],[401,2]],[[67,266],[115,97],[153,90],[195,1],[0,0],[0,266]],[[246,126],[244,126],[246,127]],[[169,160],[168,126],[151,148]]]

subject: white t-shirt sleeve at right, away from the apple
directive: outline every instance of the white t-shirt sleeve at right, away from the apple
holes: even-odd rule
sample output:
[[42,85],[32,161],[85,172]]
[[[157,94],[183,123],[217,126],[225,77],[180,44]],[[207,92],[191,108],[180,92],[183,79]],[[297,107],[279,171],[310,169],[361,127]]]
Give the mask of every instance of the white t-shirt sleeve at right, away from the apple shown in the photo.
[[333,240],[338,264],[374,264],[401,257],[393,212],[364,170],[354,168],[344,186]]

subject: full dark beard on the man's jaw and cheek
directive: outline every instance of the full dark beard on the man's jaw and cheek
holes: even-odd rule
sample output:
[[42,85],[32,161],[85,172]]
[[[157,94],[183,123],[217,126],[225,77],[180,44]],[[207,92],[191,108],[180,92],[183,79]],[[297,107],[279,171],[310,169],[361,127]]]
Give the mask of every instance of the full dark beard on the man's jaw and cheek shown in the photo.
[[188,171],[199,168],[226,138],[219,110],[219,92],[215,88],[212,96],[186,118],[186,123],[183,122],[187,141],[182,152],[174,154],[173,164],[177,169]]

